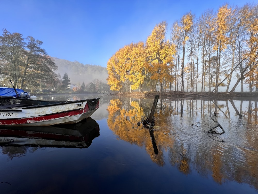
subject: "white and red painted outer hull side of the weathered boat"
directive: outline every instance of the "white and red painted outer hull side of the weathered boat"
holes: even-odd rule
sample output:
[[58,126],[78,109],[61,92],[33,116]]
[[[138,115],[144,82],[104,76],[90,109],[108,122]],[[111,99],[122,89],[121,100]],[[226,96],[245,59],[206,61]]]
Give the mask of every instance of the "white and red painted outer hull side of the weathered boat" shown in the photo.
[[[67,101],[50,105],[2,108],[0,106],[0,125],[4,126],[48,126],[54,124],[74,124],[90,117],[99,107],[95,99],[94,107],[88,101]],[[33,100],[35,101],[35,100]]]

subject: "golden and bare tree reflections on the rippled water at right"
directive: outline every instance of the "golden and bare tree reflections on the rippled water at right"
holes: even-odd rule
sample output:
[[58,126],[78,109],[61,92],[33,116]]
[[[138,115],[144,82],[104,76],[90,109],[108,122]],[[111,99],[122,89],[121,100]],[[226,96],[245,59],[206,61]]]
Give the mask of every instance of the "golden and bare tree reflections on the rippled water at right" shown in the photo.
[[[108,126],[117,138],[144,147],[153,162],[165,165],[167,152],[172,166],[182,173],[191,169],[202,176],[245,182],[258,188],[258,133],[256,101],[159,99],[153,131],[137,126],[149,115],[153,100],[120,98],[110,101]],[[216,125],[225,133],[207,133]],[[192,126],[192,123],[197,125]],[[201,123],[201,124],[199,124]],[[150,138],[151,137],[151,138]]]

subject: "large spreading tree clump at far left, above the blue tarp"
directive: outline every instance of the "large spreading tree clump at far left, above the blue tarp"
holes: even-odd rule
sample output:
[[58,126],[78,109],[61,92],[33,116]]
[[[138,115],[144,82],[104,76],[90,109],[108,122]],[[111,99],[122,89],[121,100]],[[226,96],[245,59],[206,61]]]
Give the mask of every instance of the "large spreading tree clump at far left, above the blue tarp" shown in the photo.
[[6,29],[0,36],[0,67],[6,79],[12,79],[15,87],[35,86],[33,81],[51,84],[57,76],[57,66],[41,48],[43,42],[22,34],[10,33]]

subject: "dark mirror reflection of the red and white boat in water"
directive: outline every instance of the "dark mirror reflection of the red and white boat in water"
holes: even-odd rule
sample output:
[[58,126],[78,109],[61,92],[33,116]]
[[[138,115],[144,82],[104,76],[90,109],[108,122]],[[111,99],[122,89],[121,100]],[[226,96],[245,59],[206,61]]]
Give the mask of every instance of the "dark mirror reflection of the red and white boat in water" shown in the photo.
[[87,148],[99,135],[99,124],[91,117],[70,125],[0,126],[0,146]]

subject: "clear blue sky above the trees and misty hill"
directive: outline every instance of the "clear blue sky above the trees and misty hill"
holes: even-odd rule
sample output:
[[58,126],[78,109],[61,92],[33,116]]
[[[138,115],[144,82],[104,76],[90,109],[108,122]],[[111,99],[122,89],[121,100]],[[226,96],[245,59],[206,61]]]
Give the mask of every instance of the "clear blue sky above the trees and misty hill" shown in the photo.
[[199,17],[225,3],[242,7],[258,0],[0,0],[0,27],[42,41],[51,57],[106,67],[117,50],[145,42],[161,21],[170,34],[184,14]]

